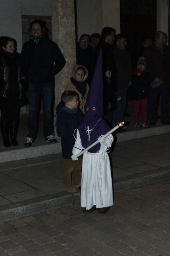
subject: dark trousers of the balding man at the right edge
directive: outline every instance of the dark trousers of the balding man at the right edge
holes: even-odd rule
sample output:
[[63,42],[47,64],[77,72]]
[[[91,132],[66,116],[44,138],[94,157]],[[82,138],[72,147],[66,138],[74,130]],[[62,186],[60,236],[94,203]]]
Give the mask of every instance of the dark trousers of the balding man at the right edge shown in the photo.
[[170,88],[157,87],[150,90],[148,100],[148,119],[150,122],[156,122],[158,119],[157,114],[157,101],[161,95],[161,121],[170,120]]

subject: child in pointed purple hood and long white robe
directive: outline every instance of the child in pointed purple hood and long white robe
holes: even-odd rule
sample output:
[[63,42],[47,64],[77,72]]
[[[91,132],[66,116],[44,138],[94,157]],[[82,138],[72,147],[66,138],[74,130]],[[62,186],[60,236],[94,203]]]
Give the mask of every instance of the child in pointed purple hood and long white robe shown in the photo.
[[113,142],[113,136],[110,134],[105,139],[102,138],[102,135],[110,131],[102,116],[103,80],[102,52],[100,52],[85,104],[85,118],[75,132],[76,142],[71,157],[77,160],[76,155],[81,150],[99,140],[98,144],[83,155],[81,183],[81,207],[85,207],[83,212],[98,209],[99,213],[105,213],[113,205],[111,166],[107,153]]

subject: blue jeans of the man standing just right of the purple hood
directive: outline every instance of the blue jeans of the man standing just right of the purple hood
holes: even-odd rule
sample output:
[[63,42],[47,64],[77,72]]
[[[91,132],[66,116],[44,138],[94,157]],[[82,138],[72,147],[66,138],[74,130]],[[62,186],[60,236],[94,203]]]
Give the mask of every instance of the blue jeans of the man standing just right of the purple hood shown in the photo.
[[127,101],[127,89],[119,89],[116,92],[117,96],[121,96],[120,102],[117,102],[117,108],[113,112],[112,126],[115,127],[119,122],[124,120],[126,101]]

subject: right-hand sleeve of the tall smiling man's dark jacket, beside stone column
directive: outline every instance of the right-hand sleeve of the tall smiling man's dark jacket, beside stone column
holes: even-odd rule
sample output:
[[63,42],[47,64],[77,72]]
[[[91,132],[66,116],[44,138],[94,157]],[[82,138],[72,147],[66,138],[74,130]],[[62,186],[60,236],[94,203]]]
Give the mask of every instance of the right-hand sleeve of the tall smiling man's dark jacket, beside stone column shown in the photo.
[[54,61],[53,74],[57,75],[65,66],[65,58],[56,43],[52,42],[52,57]]

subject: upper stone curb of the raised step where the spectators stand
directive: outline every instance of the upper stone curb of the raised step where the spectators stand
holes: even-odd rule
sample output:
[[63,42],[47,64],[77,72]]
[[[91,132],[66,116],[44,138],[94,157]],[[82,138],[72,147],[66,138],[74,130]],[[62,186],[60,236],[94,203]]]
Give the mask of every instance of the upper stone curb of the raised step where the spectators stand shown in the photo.
[[[166,134],[168,132],[170,132],[170,126],[162,125],[154,128],[144,128],[135,131],[125,131],[124,133],[116,134],[116,137],[117,142],[121,142],[125,140],[139,139],[153,135]],[[14,148],[13,150],[6,149],[6,151],[0,152],[0,163],[29,159],[33,157],[42,157],[49,154],[57,154],[60,152],[60,142],[47,145],[34,145],[27,148]]]

